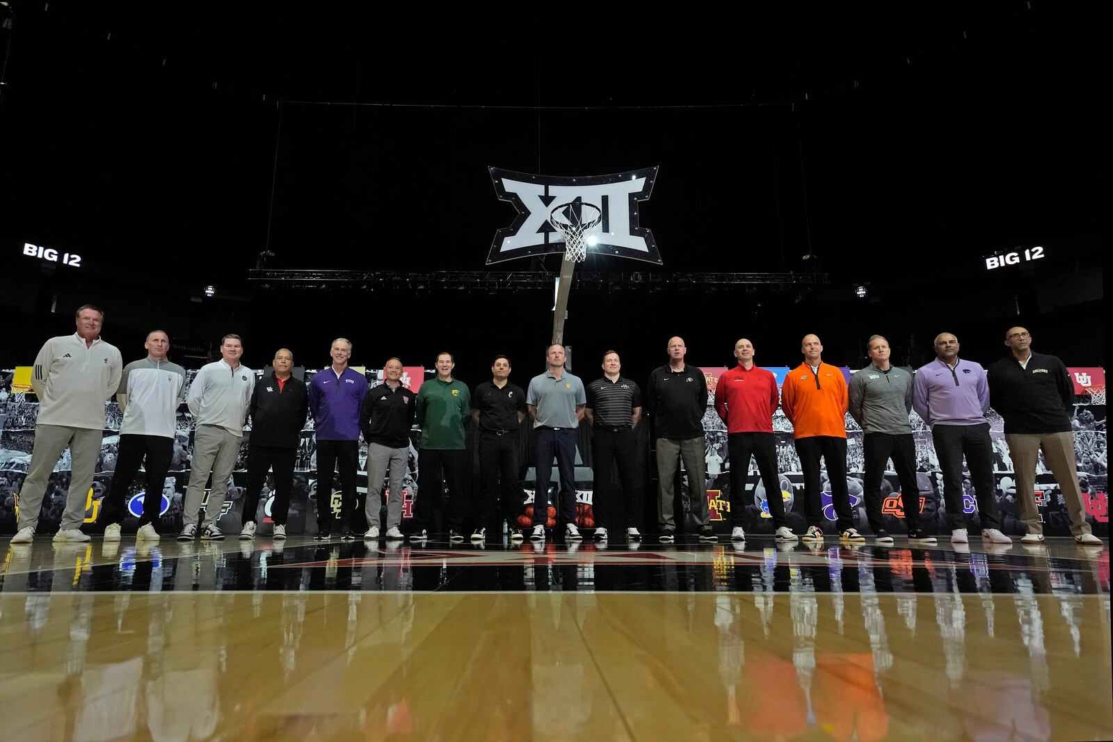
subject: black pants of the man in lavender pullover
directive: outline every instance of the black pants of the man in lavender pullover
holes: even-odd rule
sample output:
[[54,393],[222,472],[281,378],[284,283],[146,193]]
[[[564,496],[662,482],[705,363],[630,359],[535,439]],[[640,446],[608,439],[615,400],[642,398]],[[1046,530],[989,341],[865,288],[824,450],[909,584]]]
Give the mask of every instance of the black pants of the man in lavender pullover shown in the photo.
[[951,530],[966,527],[963,513],[963,455],[971,469],[971,484],[977,497],[977,511],[983,528],[999,528],[997,520],[997,483],[993,477],[993,442],[989,424],[935,425],[932,427],[935,454],[943,469],[943,499],[947,505]]

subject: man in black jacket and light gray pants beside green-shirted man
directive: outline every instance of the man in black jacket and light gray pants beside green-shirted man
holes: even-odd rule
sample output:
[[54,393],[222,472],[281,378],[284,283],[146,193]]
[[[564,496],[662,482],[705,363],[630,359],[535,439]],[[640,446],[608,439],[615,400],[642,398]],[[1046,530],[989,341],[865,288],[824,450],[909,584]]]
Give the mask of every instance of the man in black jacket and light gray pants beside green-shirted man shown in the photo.
[[367,442],[367,533],[378,538],[383,479],[391,488],[386,497],[386,537],[401,540],[402,488],[410,456],[410,428],[417,412],[417,395],[402,386],[402,362],[391,358],[383,366],[383,383],[371,388],[359,405],[359,429]]

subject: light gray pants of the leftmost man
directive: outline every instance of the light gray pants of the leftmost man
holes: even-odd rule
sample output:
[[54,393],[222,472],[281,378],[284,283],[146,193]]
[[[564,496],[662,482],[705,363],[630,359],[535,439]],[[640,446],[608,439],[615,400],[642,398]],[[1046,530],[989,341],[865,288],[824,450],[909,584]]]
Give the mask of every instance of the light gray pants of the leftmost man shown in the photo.
[[100,457],[100,429],[68,427],[65,425],[36,425],[35,447],[27,478],[19,491],[19,526],[32,528],[39,525],[39,511],[47,484],[55,464],[66,446],[70,449],[70,486],[66,493],[66,511],[62,513],[60,530],[80,528],[85,521],[85,505],[89,499],[89,487]]

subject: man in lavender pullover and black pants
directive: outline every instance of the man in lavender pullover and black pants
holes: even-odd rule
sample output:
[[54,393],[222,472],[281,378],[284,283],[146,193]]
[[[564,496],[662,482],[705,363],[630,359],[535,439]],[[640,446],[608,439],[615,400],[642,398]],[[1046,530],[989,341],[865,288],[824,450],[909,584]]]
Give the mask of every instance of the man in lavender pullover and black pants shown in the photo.
[[935,360],[916,369],[913,405],[932,428],[932,442],[943,471],[943,497],[951,520],[951,543],[968,543],[963,513],[963,456],[971,471],[982,521],[982,540],[1011,544],[1001,532],[996,482],[993,477],[993,442],[989,439],[989,385],[985,370],[973,360],[958,358],[958,338],[952,333],[935,336]]

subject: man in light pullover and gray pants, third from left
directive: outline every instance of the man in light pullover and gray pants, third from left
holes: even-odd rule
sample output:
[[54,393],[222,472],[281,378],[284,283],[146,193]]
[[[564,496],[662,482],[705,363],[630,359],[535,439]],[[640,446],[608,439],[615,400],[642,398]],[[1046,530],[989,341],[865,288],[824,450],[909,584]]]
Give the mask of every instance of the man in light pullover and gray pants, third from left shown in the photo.
[[[220,360],[203,366],[189,385],[186,404],[194,416],[194,457],[190,464],[189,486],[181,517],[185,525],[178,541],[193,541],[201,503],[205,521],[201,538],[221,541],[224,534],[216,522],[223,515],[224,496],[228,492],[228,477],[236,466],[239,444],[244,439],[244,421],[255,389],[255,372],[239,363],[244,344],[238,335],[220,339]],[[205,485],[213,475],[213,488],[205,498]]]

